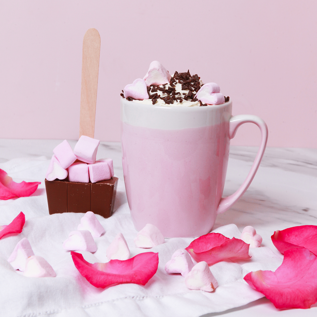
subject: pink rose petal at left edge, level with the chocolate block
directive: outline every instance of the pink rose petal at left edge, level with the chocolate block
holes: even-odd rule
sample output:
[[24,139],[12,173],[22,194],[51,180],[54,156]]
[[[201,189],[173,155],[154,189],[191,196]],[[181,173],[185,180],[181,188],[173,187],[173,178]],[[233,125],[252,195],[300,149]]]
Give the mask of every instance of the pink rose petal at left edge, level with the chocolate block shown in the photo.
[[14,197],[29,197],[41,182],[16,183],[2,169],[0,169],[0,199],[7,200]]

